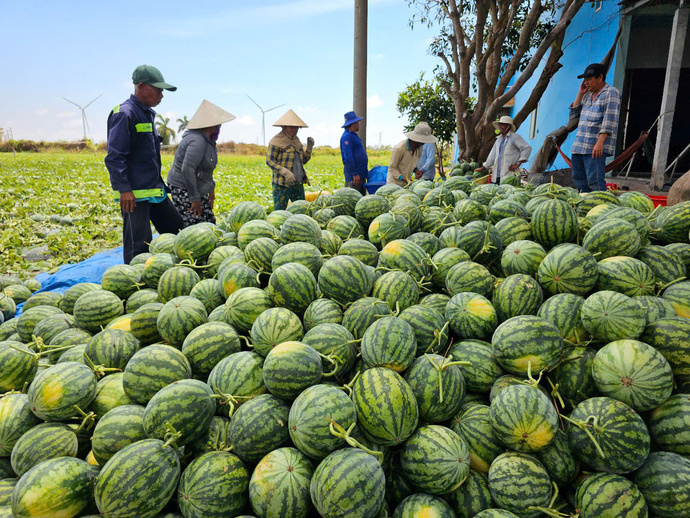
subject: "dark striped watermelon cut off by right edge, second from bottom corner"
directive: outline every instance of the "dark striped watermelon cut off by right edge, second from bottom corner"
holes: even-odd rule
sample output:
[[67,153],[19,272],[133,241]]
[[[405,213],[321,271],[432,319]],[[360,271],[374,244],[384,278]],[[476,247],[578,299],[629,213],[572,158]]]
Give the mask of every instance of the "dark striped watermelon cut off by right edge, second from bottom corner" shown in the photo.
[[649,415],[652,441],[658,449],[690,454],[690,395],[674,394]]

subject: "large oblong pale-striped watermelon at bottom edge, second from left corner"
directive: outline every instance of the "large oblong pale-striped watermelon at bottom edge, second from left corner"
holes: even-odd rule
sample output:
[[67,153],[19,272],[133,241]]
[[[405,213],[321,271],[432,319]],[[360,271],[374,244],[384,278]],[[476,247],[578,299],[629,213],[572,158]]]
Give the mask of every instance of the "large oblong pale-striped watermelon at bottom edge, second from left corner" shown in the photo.
[[101,469],[94,488],[96,505],[105,516],[153,518],[175,494],[179,478],[180,460],[173,448],[158,439],[138,441]]

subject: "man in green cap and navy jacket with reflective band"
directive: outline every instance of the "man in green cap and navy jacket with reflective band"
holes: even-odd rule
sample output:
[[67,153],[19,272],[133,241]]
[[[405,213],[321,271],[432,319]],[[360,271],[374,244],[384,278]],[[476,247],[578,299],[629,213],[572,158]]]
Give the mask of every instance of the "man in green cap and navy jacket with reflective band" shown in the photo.
[[176,87],[150,65],[138,66],[132,74],[134,95],[113,108],[108,116],[108,154],[105,166],[110,185],[122,211],[123,256],[128,264],[138,254],[148,252],[156,230],[177,234],[182,216],[168,198],[161,177],[161,139],[156,133],[154,106],[163,99],[163,90]]

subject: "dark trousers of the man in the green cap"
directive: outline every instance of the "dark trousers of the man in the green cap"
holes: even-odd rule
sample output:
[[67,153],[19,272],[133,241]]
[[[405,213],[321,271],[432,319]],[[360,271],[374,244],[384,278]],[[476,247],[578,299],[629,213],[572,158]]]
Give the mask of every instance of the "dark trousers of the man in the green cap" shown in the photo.
[[134,212],[122,213],[122,255],[129,264],[135,255],[149,251],[153,239],[151,223],[160,234],[177,234],[184,226],[170,198],[161,203],[137,201]]

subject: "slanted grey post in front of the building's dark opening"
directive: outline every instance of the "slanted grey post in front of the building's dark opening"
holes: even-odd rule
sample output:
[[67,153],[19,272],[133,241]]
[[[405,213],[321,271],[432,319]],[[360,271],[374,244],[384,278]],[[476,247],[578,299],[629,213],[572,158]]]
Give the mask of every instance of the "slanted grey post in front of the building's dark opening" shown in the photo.
[[673,16],[671,29],[671,44],[668,49],[668,61],[666,65],[666,79],[664,81],[664,93],[661,98],[661,119],[657,132],[656,149],[654,150],[654,163],[652,165],[652,190],[660,191],[664,186],[664,173],[668,163],[668,148],[671,142],[671,128],[673,127],[673,110],[676,107],[678,95],[678,81],[680,68],[683,61],[683,47],[688,32],[688,15],[690,9],[685,7],[681,0],[680,7]]

